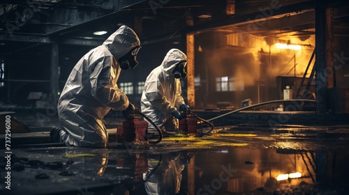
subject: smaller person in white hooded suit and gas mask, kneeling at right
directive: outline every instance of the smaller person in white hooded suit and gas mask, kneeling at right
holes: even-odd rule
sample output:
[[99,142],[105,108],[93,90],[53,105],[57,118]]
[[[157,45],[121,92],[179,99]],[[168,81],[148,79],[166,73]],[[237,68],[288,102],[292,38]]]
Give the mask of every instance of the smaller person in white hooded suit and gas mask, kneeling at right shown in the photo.
[[[179,49],[170,49],[163,62],[148,75],[140,108],[142,114],[152,120],[164,135],[174,135],[179,132],[178,120],[182,118],[179,109],[188,111],[181,96],[181,81],[186,78],[186,54]],[[149,124],[149,138],[156,134],[156,129]]]

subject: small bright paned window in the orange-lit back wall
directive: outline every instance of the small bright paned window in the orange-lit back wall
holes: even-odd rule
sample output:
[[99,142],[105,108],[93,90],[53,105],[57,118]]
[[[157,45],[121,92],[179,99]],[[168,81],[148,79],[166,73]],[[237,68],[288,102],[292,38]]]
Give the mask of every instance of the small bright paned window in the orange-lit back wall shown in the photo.
[[243,91],[244,81],[234,77],[216,77],[216,91]]

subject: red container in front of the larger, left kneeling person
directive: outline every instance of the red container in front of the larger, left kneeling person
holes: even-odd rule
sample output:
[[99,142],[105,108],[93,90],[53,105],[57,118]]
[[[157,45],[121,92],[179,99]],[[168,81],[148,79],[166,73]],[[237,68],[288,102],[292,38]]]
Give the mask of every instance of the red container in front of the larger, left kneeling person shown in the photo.
[[122,123],[124,142],[147,142],[148,122],[144,120],[125,120]]

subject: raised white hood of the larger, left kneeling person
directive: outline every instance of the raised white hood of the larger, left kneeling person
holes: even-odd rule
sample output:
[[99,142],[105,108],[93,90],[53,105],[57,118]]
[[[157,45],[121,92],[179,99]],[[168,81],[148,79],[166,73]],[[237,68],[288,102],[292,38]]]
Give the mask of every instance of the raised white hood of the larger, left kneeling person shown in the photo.
[[134,47],[140,46],[140,39],[135,31],[123,25],[112,33],[112,35],[103,42],[103,45],[107,47],[115,59],[119,59]]

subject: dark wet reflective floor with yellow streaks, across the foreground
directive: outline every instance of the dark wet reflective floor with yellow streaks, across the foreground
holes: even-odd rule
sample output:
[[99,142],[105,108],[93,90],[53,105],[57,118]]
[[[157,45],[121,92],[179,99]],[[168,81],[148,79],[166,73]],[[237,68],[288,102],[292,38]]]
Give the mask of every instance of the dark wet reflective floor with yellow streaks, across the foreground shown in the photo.
[[240,125],[155,145],[13,148],[0,193],[348,194],[348,130]]

